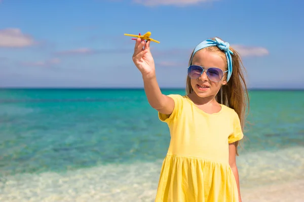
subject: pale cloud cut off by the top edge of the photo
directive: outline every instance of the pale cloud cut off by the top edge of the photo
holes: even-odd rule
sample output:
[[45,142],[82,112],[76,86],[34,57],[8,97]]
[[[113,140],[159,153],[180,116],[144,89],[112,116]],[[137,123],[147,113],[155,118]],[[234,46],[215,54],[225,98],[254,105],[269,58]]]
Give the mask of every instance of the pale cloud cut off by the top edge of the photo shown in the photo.
[[143,4],[145,6],[158,6],[158,5],[174,5],[174,6],[187,6],[196,5],[201,2],[213,2],[218,0],[133,0],[133,2],[138,4]]

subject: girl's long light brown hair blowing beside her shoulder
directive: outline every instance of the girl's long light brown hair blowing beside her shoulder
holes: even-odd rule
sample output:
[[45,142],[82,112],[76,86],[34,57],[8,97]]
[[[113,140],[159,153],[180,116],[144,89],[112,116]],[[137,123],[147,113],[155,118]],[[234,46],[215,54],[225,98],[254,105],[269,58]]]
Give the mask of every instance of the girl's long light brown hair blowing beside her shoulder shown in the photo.
[[[215,40],[215,38],[211,38],[211,39]],[[226,62],[226,69],[227,69],[227,59],[223,51],[221,51],[217,46],[209,46],[209,47],[205,47],[204,49],[206,51],[214,52],[220,55],[223,58],[223,60]],[[230,50],[233,52],[233,54],[231,54],[233,73],[227,84],[221,86],[220,90],[215,96],[215,99],[218,103],[230,107],[236,111],[236,113],[239,115],[240,118],[242,130],[244,131],[245,119],[246,119],[245,116],[246,105],[248,106],[248,112],[249,112],[249,96],[248,96],[247,85],[244,78],[244,71],[246,72],[246,70],[244,68],[239,53],[231,46],[230,46]],[[193,52],[191,56],[193,55]],[[189,59],[188,65],[191,65],[190,63],[191,63],[191,57]],[[191,79],[187,77],[186,93],[189,94],[192,92],[193,92],[193,88],[191,86]],[[239,145],[239,141],[236,142],[237,156],[239,156],[238,145]]]

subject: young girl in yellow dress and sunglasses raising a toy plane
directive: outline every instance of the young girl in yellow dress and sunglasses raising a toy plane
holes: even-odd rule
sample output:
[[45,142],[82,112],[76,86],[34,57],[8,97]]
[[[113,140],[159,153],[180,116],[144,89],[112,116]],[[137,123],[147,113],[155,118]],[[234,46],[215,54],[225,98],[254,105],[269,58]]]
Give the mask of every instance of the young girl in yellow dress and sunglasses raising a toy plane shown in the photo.
[[241,202],[236,155],[248,94],[238,53],[219,38],[199,43],[183,96],[162,94],[150,41],[136,40],[133,62],[171,135],[155,201]]

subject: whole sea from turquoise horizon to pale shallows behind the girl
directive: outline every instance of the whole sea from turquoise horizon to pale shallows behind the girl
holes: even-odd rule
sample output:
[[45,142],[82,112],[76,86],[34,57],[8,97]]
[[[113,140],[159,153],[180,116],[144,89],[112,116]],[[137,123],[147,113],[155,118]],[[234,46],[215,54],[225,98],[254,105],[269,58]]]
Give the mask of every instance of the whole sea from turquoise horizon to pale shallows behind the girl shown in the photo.
[[[249,95],[241,187],[304,179],[304,91]],[[0,201],[153,201],[169,141],[142,89],[2,89]]]

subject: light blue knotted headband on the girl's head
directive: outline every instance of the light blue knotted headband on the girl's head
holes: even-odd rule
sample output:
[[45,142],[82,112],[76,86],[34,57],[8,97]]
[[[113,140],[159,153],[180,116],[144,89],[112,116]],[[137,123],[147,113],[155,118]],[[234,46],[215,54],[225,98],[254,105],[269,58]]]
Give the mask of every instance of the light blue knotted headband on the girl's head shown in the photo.
[[226,59],[227,59],[227,68],[228,68],[228,73],[227,73],[227,82],[228,82],[231,75],[232,75],[232,58],[231,58],[230,54],[233,54],[233,52],[229,49],[230,45],[229,45],[228,42],[224,42],[224,41],[220,40],[219,38],[215,38],[215,40],[207,39],[207,40],[202,41],[200,44],[198,44],[195,47],[194,52],[193,52],[192,57],[191,57],[190,64],[192,64],[192,59],[193,59],[193,56],[196,52],[198,52],[200,49],[203,49],[205,47],[215,46],[215,45],[219,49],[221,49],[222,51],[225,52]]

